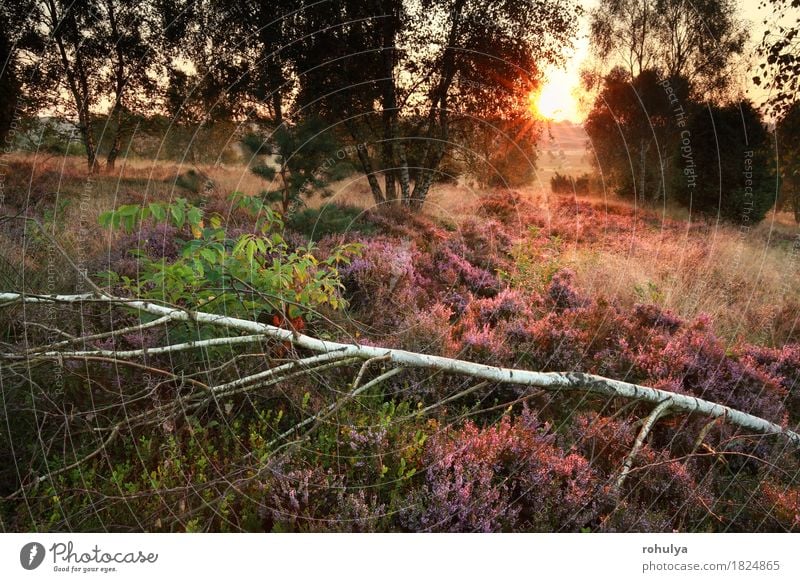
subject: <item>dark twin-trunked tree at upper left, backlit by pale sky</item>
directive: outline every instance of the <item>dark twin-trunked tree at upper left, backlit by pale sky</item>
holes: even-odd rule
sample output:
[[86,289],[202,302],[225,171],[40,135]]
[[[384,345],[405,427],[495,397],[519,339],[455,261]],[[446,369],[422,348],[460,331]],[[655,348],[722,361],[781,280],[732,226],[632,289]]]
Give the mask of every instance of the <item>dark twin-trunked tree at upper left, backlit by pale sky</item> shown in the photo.
[[152,110],[159,88],[154,67],[165,52],[152,5],[40,0],[33,3],[27,32],[31,44],[40,47],[38,72],[30,77],[28,91],[65,107],[86,148],[90,171],[97,169],[95,110],[111,101],[100,135],[108,143],[107,165],[113,168],[129,113]]

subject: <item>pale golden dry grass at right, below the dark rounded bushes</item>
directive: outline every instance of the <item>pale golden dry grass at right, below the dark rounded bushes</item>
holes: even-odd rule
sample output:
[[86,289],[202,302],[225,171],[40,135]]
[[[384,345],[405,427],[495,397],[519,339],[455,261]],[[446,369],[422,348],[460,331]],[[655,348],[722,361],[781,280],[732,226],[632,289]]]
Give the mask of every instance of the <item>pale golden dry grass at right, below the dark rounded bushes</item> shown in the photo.
[[800,256],[789,238],[800,232],[787,216],[773,218],[752,230],[665,218],[661,229],[573,244],[562,261],[593,296],[655,303],[689,319],[707,314],[731,343],[781,345],[800,340]]

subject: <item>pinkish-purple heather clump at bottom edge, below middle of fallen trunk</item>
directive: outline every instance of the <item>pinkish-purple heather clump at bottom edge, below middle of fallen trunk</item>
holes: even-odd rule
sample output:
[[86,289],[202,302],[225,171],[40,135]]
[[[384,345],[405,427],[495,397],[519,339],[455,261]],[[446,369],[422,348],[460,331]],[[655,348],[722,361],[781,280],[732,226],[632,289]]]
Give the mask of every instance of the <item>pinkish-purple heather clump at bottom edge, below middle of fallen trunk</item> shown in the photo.
[[554,444],[526,413],[429,441],[425,482],[403,516],[414,531],[577,531],[596,517],[599,482],[586,459]]

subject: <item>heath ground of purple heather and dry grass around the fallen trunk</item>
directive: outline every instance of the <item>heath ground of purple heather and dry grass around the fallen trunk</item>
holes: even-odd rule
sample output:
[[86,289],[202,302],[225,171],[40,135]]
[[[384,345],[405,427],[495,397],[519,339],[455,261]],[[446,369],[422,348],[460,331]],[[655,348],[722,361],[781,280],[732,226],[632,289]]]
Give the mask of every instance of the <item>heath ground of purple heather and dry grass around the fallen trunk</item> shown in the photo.
[[[13,160],[4,213],[34,218],[43,232],[18,219],[0,223],[3,290],[68,293],[84,286],[54,241],[92,277],[110,269],[136,281],[143,265],[173,264],[198,238],[188,224],[145,222],[127,234],[100,228],[100,214],[123,203],[186,198],[208,220],[216,213],[233,238],[256,232],[257,216],[233,208],[228,197],[264,187],[246,168],[136,163],[87,180],[80,167],[71,159]],[[293,316],[293,325],[310,335],[495,366],[595,373],[699,396],[784,426],[800,422],[798,239],[787,216],[772,214],[745,231],[671,208],[635,208],[602,192],[556,196],[536,185],[439,186],[424,212],[410,214],[374,208],[362,176],[332,190],[273,233],[285,240],[280,252],[313,252],[319,261],[343,243],[360,249],[335,272],[347,307]],[[309,239],[316,241],[310,251]],[[55,320],[38,309],[2,312],[6,345],[52,342],[53,326],[78,336],[135,323],[132,314],[118,319],[102,307],[67,307]],[[278,323],[283,317],[264,315]],[[208,334],[200,326],[157,327],[116,340],[101,335],[88,347],[140,349]],[[22,446],[0,459],[0,493],[30,480],[15,467],[31,467],[32,474],[42,467],[70,470],[26,491],[25,511],[4,501],[3,527],[800,527],[793,451],[702,417],[660,421],[624,489],[615,488],[649,413],[641,404],[502,384],[470,388],[461,377],[411,369],[340,402],[337,395],[363,373],[347,362],[268,389],[193,400],[198,383],[230,382],[285,363],[294,357],[287,349],[262,342],[146,355],[144,374],[102,359],[15,367],[3,412],[10,437]],[[154,380],[159,370],[169,379]],[[370,370],[364,380],[380,372]],[[31,392],[54,377],[61,378],[58,398]],[[36,414],[64,418],[70,410],[70,420],[41,430],[29,398]],[[175,402],[204,404],[190,412],[168,406]],[[70,468],[102,444],[97,423],[131,415],[155,420],[126,424],[102,454]],[[281,442],[287,429],[312,416],[325,420],[304,439]],[[67,437],[70,451],[56,444]]]

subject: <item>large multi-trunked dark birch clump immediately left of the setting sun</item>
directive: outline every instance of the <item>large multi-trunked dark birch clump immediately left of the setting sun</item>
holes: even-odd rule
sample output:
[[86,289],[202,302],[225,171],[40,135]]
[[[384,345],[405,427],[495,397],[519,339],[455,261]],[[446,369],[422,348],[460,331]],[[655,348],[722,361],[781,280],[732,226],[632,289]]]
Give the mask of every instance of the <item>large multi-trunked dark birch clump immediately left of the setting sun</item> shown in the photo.
[[526,108],[542,67],[569,42],[575,13],[540,1],[315,7],[300,22],[300,105],[366,145],[359,162],[376,203],[419,208],[459,145],[458,120]]

